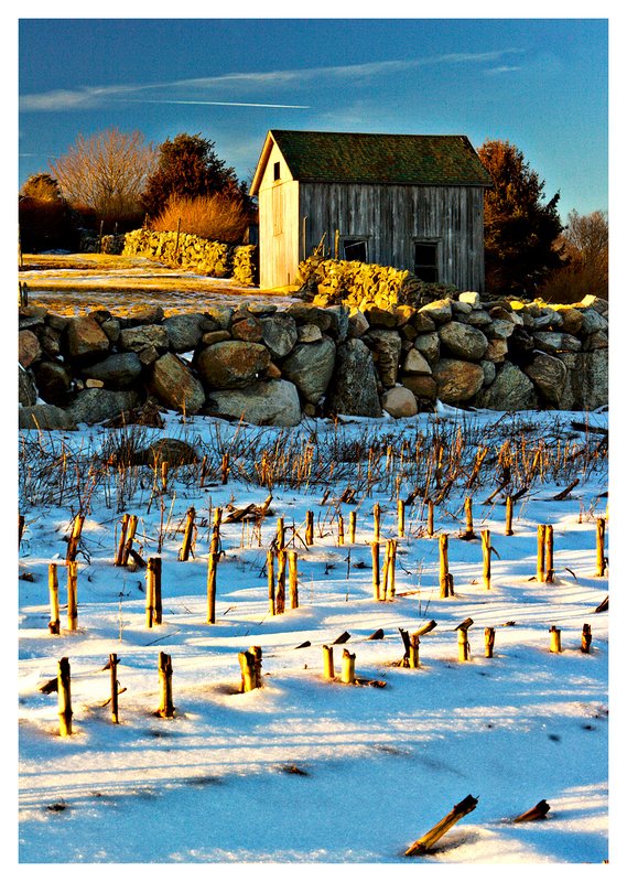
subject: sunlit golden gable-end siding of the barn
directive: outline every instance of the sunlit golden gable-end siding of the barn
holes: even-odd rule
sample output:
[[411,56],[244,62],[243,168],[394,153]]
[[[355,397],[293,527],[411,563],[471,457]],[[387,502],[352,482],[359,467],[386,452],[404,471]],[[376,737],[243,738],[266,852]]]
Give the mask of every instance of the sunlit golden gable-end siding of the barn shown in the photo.
[[[274,180],[274,163],[280,178]],[[259,284],[293,284],[299,270],[299,182],[274,144],[259,186]]]

